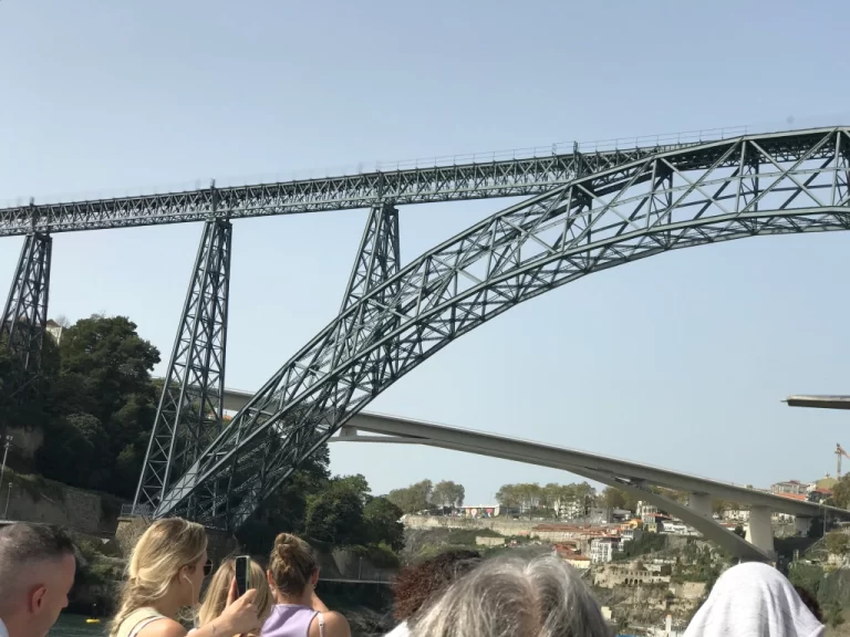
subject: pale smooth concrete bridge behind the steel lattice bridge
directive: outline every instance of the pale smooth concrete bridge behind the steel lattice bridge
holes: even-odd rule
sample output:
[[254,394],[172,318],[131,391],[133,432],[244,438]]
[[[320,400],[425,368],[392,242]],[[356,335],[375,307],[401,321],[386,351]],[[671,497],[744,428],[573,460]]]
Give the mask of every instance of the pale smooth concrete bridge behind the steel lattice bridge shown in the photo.
[[[226,389],[224,407],[228,411],[238,411],[252,396],[251,391]],[[774,535],[770,518],[774,512],[795,515],[799,532],[807,531],[812,519],[822,518],[825,514],[850,520],[850,511],[843,509],[791,500],[757,489],[641,462],[366,411],[351,418],[330,440],[332,442],[426,445],[562,469],[639,495],[642,500],[655,504],[693,526],[707,540],[715,542],[740,560],[773,558]],[[651,485],[686,491],[690,494],[690,502],[684,505],[654,493],[649,489]],[[732,533],[714,520],[712,515],[714,498],[749,507],[749,529],[746,539]]]

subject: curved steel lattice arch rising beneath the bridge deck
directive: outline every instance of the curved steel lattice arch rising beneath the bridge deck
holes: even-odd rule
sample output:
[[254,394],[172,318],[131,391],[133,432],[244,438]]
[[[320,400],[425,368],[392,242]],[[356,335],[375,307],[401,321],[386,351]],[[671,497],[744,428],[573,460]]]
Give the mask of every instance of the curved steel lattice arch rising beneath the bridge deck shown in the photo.
[[[659,153],[476,223],[373,289],[310,341],[237,414],[156,515],[182,513],[189,495],[236,467],[230,507],[219,499],[199,516],[238,528],[395,379],[484,322],[581,276],[675,249],[850,229],[849,153],[848,128]],[[390,286],[397,292],[387,302]],[[335,356],[357,312],[369,312],[372,323],[361,330],[355,351]],[[366,362],[387,343],[395,374],[376,378]],[[255,458],[271,443],[279,449],[260,491]]]

